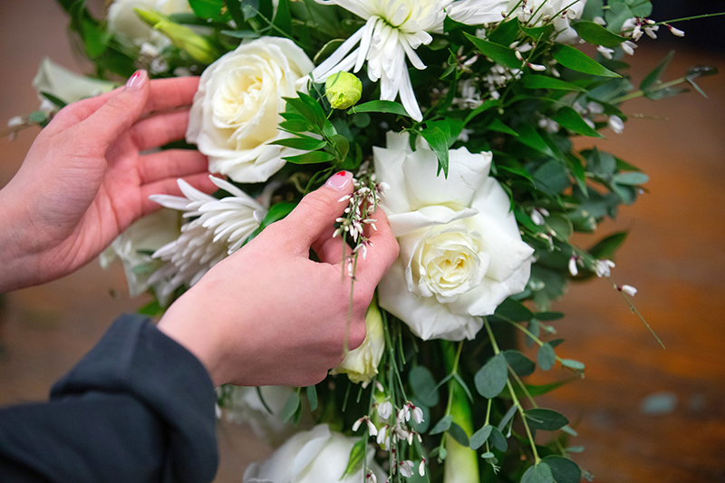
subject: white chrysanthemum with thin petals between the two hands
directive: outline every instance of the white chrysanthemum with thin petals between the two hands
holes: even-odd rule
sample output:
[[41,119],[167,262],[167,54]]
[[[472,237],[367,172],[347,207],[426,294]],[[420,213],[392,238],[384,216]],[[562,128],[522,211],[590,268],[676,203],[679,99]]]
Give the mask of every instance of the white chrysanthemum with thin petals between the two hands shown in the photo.
[[166,262],[149,278],[149,285],[159,287],[157,296],[161,302],[168,301],[179,286],[196,284],[209,268],[237,251],[266,216],[266,209],[241,189],[224,179],[209,179],[232,196],[217,199],[179,179],[184,197],[150,197],[166,208],[183,211],[183,217],[195,218],[181,227],[176,241],[153,254]]

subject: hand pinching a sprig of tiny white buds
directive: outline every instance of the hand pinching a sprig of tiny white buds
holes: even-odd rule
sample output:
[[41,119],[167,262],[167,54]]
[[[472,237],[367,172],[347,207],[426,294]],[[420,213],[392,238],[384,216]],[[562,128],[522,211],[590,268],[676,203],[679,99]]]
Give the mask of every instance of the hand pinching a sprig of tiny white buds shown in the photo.
[[[372,246],[359,257],[353,296],[343,277],[343,240],[334,220],[353,191],[338,173],[303,198],[285,219],[208,271],[161,319],[159,329],[184,345],[219,385],[292,384],[324,379],[365,338],[365,311],[398,256],[398,243],[379,209]],[[310,248],[320,263],[309,258]],[[348,248],[349,253],[349,248]],[[349,325],[348,325],[349,321]]]

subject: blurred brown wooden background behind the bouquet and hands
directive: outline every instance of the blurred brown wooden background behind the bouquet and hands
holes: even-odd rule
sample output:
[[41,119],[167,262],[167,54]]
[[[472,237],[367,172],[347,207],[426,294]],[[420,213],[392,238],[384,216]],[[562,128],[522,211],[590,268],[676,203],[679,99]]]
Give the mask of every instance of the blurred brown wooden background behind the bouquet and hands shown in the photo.
[[[90,3],[102,7],[101,0]],[[656,13],[655,5],[654,18],[664,18]],[[87,70],[70,51],[66,26],[52,0],[0,1],[1,123],[37,109],[31,81],[44,56],[76,72]],[[692,22],[681,28],[700,27]],[[634,82],[671,46],[643,43],[635,54]],[[667,79],[695,64],[725,71],[721,51],[684,42],[676,48]],[[623,134],[609,131],[609,140],[597,143],[650,175],[650,194],[623,208],[600,235],[631,231],[613,276],[640,289],[635,301],[667,350],[602,280],[573,285],[556,304],[566,314],[556,323],[567,340],[559,352],[585,362],[586,379],[541,404],[581,419],[571,444],[585,446],[575,460],[596,481],[725,482],[725,72],[701,86],[709,99],[691,93],[629,102],[624,111],[646,119],[633,119]],[[0,186],[12,178],[36,133],[26,130],[13,142],[0,139]],[[577,141],[580,148],[590,144]],[[591,237],[579,240],[582,246],[594,244]],[[96,263],[7,295],[0,308],[0,404],[45,399],[51,384],[117,315],[143,303],[129,299],[120,266],[103,271]],[[536,377],[551,381],[560,375]],[[219,482],[240,481],[249,461],[269,454],[244,428],[225,425],[219,434]]]

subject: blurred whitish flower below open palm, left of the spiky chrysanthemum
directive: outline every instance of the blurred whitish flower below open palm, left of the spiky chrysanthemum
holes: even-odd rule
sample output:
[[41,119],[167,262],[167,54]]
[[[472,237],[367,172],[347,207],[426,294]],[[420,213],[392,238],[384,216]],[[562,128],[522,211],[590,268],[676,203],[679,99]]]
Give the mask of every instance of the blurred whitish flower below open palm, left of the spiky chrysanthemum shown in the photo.
[[107,268],[114,259],[121,259],[129,295],[141,295],[149,288],[149,276],[154,269],[163,265],[159,260],[154,260],[151,254],[176,240],[180,227],[179,213],[173,209],[162,209],[142,217],[113,240],[111,246],[101,254],[101,266]]

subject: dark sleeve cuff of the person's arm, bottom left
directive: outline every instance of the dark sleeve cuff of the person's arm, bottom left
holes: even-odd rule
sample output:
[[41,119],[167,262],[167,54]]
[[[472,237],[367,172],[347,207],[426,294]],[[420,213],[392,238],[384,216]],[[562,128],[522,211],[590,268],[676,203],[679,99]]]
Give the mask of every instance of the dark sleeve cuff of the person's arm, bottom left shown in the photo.
[[124,315],[49,402],[0,411],[0,481],[211,481],[215,401],[193,354]]

